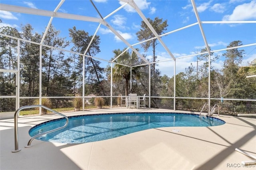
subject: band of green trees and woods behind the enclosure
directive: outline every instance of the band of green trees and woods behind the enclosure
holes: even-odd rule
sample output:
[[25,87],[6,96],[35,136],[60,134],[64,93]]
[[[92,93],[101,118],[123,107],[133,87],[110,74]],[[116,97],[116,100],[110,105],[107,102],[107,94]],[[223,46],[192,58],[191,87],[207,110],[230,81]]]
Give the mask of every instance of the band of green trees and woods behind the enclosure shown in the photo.
[[[166,30],[167,21],[160,18],[150,20],[157,33],[163,34]],[[141,29],[137,32],[138,40],[143,41],[151,38],[148,28],[142,22]],[[19,32],[16,28],[2,27],[0,33],[22,38],[32,42],[40,43],[42,34],[33,32],[30,24],[21,27]],[[50,26],[48,34],[44,39],[44,45],[65,49],[70,47],[71,51],[83,53],[92,35],[85,30],[76,30],[76,27],[69,29],[69,42],[64,37],[60,37],[60,30]],[[161,75],[158,69],[157,56],[155,55],[157,39],[142,44],[147,51],[152,49],[152,57],[148,61],[151,65],[151,87],[152,96],[151,107],[174,108],[174,77]],[[227,46],[236,47],[242,45],[240,40],[230,42]],[[40,45],[20,41],[20,97],[39,97],[39,73],[40,73]],[[114,59],[125,49],[112,49]],[[205,52],[206,49],[200,49]],[[200,52],[199,51],[199,52]],[[100,52],[100,36],[94,38],[87,55],[96,56]],[[141,52],[141,51],[140,51]],[[211,53],[211,63],[220,57],[225,58],[221,69],[210,67],[210,96],[212,105],[218,103],[222,112],[255,113],[255,101],[226,100],[226,99],[256,99],[256,77],[246,78],[246,75],[256,73],[256,59],[248,63],[246,67],[240,64],[246,56],[243,49],[228,49],[222,56]],[[82,96],[82,56],[75,53],[67,53],[62,50],[50,47],[42,47],[42,96],[44,97],[72,97],[75,94]],[[118,59],[119,63],[125,65],[140,65],[141,59],[132,51],[126,51]],[[178,60],[177,60],[178,61]],[[176,75],[176,109],[200,111],[208,98],[208,54],[197,55],[196,65],[192,63],[186,67],[184,72]],[[0,69],[17,70],[18,64],[18,41],[17,39],[0,36]],[[110,96],[110,65],[101,67],[101,62],[85,57],[85,93],[96,96]],[[176,67],[179,67],[177,64]],[[172,69],[172,68],[171,68]],[[138,95],[149,94],[149,66],[143,65],[132,67],[132,87],[130,88],[130,67],[123,65],[113,65],[113,96],[128,95],[128,93],[138,93]],[[15,74],[0,72],[0,96],[15,95]],[[131,89],[131,90],[130,90]],[[168,98],[169,97],[169,98]],[[188,97],[190,99],[184,99]],[[224,98],[221,101],[220,98]],[[113,105],[116,105],[114,98]],[[33,105],[35,99],[20,99],[20,106]],[[52,108],[71,107],[70,98],[51,98]],[[110,105],[110,98],[104,98],[105,104]],[[148,100],[148,99],[147,99]],[[148,102],[146,102],[148,105]],[[0,112],[15,111],[15,99],[0,98]]]

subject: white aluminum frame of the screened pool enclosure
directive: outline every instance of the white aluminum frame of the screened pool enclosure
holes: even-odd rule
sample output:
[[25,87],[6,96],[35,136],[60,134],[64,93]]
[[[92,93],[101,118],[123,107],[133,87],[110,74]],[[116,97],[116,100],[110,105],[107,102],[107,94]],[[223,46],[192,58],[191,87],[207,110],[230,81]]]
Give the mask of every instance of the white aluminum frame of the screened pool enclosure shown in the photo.
[[[0,10],[3,10],[3,11],[8,11],[8,12],[18,12],[18,13],[24,13],[24,14],[32,14],[32,15],[40,15],[40,16],[48,16],[50,17],[49,19],[49,22],[48,22],[48,25],[46,27],[46,30],[44,32],[44,35],[42,37],[42,40],[40,43],[36,43],[36,42],[31,42],[31,41],[28,41],[28,40],[23,40],[23,39],[20,39],[20,38],[16,38],[16,37],[12,37],[12,36],[8,36],[8,35],[5,35],[5,34],[0,34],[1,36],[6,36],[6,37],[9,37],[9,38],[14,38],[14,39],[17,39],[18,41],[18,44],[20,43],[20,41],[25,41],[25,42],[30,42],[30,43],[35,43],[35,44],[38,44],[40,45],[40,96],[39,96],[39,99],[40,99],[40,105],[41,105],[41,99],[42,99],[42,46],[47,46],[47,47],[50,47],[50,48],[55,48],[55,49],[59,49],[59,48],[56,48],[56,47],[51,47],[51,46],[48,46],[48,45],[44,45],[44,38],[46,37],[46,34],[48,32],[48,29],[50,28],[50,25],[52,23],[52,20],[54,18],[65,18],[65,19],[71,19],[71,20],[80,20],[80,21],[86,21],[86,22],[96,22],[96,23],[99,23],[96,31],[94,32],[94,35],[92,37],[92,40],[90,41],[88,47],[86,48],[86,50],[84,51],[84,53],[75,53],[74,51],[69,51],[69,50],[66,50],[66,49],[59,49],[59,50],[63,50],[63,51],[67,51],[67,52],[70,52],[70,53],[74,53],[74,54],[78,54],[78,55],[81,55],[83,56],[83,110],[84,110],[84,98],[85,98],[85,95],[84,95],[84,82],[85,82],[85,71],[84,71],[84,65],[85,65],[85,57],[92,57],[93,59],[98,59],[98,60],[101,60],[101,61],[107,61],[108,63],[110,63],[111,65],[111,95],[110,95],[110,107],[112,108],[112,84],[113,84],[113,79],[112,79],[112,69],[113,69],[113,64],[120,64],[120,65],[123,65],[121,63],[117,63],[116,62],[116,59],[118,57],[120,57],[120,54],[118,57],[116,57],[115,59],[113,59],[112,61],[110,60],[106,60],[106,59],[102,59],[102,58],[99,58],[99,57],[94,57],[94,56],[89,56],[89,55],[86,55],[92,41],[94,40],[95,36],[97,35],[98,33],[98,30],[100,29],[100,26],[103,25],[105,26],[106,28],[108,28],[109,30],[111,30],[111,32],[117,36],[118,38],[120,38],[120,40],[122,40],[122,42],[124,42],[124,44],[127,45],[127,50],[131,49],[132,51],[134,51],[138,57],[140,57],[145,63],[142,64],[142,65],[148,65],[149,66],[149,107],[150,107],[150,98],[152,97],[151,94],[150,94],[150,87],[151,87],[151,75],[150,75],[150,68],[151,68],[151,64],[153,64],[153,62],[149,62],[139,51],[137,51],[134,46],[135,45],[139,45],[139,44],[142,44],[144,42],[147,42],[147,41],[150,41],[150,40],[153,40],[153,39],[157,39],[160,44],[162,45],[162,47],[166,50],[166,52],[170,55],[170,59],[167,59],[167,60],[164,60],[164,61],[173,61],[174,62],[174,110],[176,110],[176,60],[177,59],[181,59],[181,58],[185,58],[185,57],[192,57],[192,56],[195,56],[195,55],[200,55],[200,54],[207,54],[208,53],[208,77],[210,77],[210,53],[211,52],[216,52],[216,51],[223,51],[223,50],[227,50],[227,49],[234,49],[234,48],[240,48],[240,47],[248,47],[248,46],[254,46],[256,45],[256,43],[251,43],[251,44],[246,44],[246,45],[241,45],[241,46],[237,46],[237,47],[231,47],[231,48],[226,48],[226,49],[218,49],[218,50],[212,50],[210,51],[210,47],[208,45],[208,42],[207,42],[207,38],[204,34],[204,29],[202,27],[203,24],[242,24],[242,23],[252,23],[252,24],[255,24],[256,21],[201,21],[200,19],[200,16],[198,14],[198,10],[197,10],[197,7],[196,7],[196,3],[194,2],[194,0],[191,0],[191,4],[192,4],[192,7],[193,7],[193,11],[194,11],[194,14],[196,16],[196,20],[197,22],[194,23],[194,24],[190,24],[188,26],[184,26],[182,28],[178,28],[176,30],[172,30],[170,32],[167,32],[165,34],[162,34],[162,35],[158,35],[156,33],[156,31],[154,30],[154,28],[150,25],[150,22],[147,20],[147,18],[144,16],[144,14],[142,13],[142,11],[138,8],[137,4],[134,2],[134,0],[120,0],[120,2],[124,2],[124,4],[122,4],[120,7],[118,7],[116,10],[114,10],[113,12],[111,12],[110,14],[108,14],[107,16],[105,16],[104,18],[96,18],[96,17],[89,17],[89,16],[81,16],[81,15],[74,15],[74,14],[67,14],[67,13],[62,13],[62,12],[58,12],[58,10],[60,9],[60,7],[62,6],[62,4],[65,2],[65,0],[60,0],[60,2],[58,3],[58,5],[56,6],[56,8],[53,10],[53,11],[47,11],[47,10],[40,10],[40,9],[33,9],[33,8],[26,8],[26,7],[21,7],[21,6],[12,6],[12,5],[7,5],[7,4],[0,4]],[[92,2],[92,1],[91,1]],[[92,2],[93,3],[93,2]],[[106,22],[106,19],[109,18],[110,16],[112,16],[113,14],[115,14],[116,12],[118,12],[119,10],[121,10],[122,8],[124,8],[125,6],[131,6],[132,8],[134,8],[134,10],[138,13],[138,15],[141,17],[142,21],[146,23],[146,25],[148,26],[148,28],[152,31],[152,33],[154,34],[154,38],[150,38],[148,40],[145,40],[145,41],[142,41],[142,42],[138,42],[138,43],[135,43],[135,44],[130,44],[124,37],[122,37],[122,35],[120,35],[108,22]],[[95,7],[95,6],[94,6]],[[96,8],[96,7],[95,7]],[[97,9],[96,9],[97,10]],[[99,12],[97,10],[97,12]],[[100,14],[100,12],[99,12]],[[101,14],[100,14],[101,16]],[[166,36],[166,35],[169,35],[169,34],[172,34],[174,32],[178,32],[180,30],[184,30],[184,29],[187,29],[187,28],[190,28],[190,27],[194,27],[194,26],[198,26],[200,28],[200,32],[201,32],[201,35],[202,35],[202,39],[204,40],[204,43],[205,43],[205,46],[206,46],[206,49],[207,49],[207,52],[204,52],[204,53],[196,53],[196,54],[193,54],[193,55],[186,55],[186,56],[183,56],[183,57],[175,57],[175,55],[170,51],[170,49],[167,47],[167,45],[165,44],[165,42],[161,39],[163,36]],[[125,52],[124,51],[124,52]],[[18,70],[17,70],[17,73],[18,73],[18,79],[19,79],[19,57],[20,57],[20,49],[19,49],[19,45],[18,45]],[[159,62],[164,62],[164,61],[156,61],[154,63],[159,63]],[[124,65],[126,67],[130,67],[130,69],[132,69],[132,67],[136,67],[138,65],[134,65],[134,66],[129,66],[129,65]],[[19,82],[19,80],[18,80]],[[132,82],[130,82],[130,87],[132,86],[131,85]],[[19,87],[19,83],[18,83],[18,89],[20,89]],[[19,93],[19,92],[18,92]],[[18,95],[19,96],[19,95]],[[210,78],[208,78],[208,104],[210,105],[210,100],[211,100],[211,96],[210,96]],[[19,97],[18,97],[18,101],[19,101]],[[19,102],[16,103],[18,106],[16,106],[16,108],[19,108]],[[210,108],[209,108],[210,109]],[[209,110],[210,111],[210,110]]]

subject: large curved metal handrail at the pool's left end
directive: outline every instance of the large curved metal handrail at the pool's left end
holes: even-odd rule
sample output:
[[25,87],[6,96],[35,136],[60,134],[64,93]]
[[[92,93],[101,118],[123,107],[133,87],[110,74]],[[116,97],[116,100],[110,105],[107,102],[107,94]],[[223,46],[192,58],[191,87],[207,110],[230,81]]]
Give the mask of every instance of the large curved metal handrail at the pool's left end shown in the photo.
[[41,107],[41,108],[44,108],[44,109],[46,109],[46,110],[48,110],[48,111],[51,111],[51,112],[53,112],[53,113],[56,113],[57,115],[63,116],[64,118],[66,118],[66,124],[65,124],[64,126],[62,126],[62,127],[58,127],[58,128],[56,128],[56,129],[52,129],[52,130],[49,130],[49,131],[47,131],[47,132],[44,132],[44,133],[37,134],[37,135],[33,136],[33,137],[28,141],[28,145],[25,146],[25,148],[29,148],[29,147],[32,146],[32,145],[31,145],[31,142],[32,142],[32,140],[34,140],[34,138],[37,138],[37,137],[42,136],[42,135],[44,135],[44,134],[48,134],[48,133],[50,133],[50,132],[54,132],[54,131],[56,131],[56,130],[60,130],[60,129],[62,129],[62,128],[65,128],[65,127],[68,125],[68,117],[67,117],[66,115],[63,115],[63,114],[61,114],[61,113],[58,113],[58,112],[56,112],[56,111],[54,111],[54,110],[52,110],[52,109],[50,109],[50,108],[48,108],[48,107],[46,107],[46,106],[44,106],[44,105],[31,105],[31,106],[23,106],[23,107],[20,107],[20,108],[15,112],[15,114],[14,114],[14,143],[15,143],[15,149],[14,149],[12,152],[19,152],[19,151],[21,150],[21,149],[19,149],[19,147],[18,147],[18,113],[19,113],[21,110],[23,110],[23,109],[31,109],[31,108],[35,108],[35,107]]

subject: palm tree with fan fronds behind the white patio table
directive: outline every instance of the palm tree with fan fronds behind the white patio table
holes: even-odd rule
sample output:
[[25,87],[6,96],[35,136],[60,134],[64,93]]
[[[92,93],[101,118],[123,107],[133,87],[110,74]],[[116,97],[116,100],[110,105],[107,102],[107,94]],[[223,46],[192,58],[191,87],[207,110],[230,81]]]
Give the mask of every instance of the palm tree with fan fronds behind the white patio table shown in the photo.
[[[131,73],[131,69],[130,67],[124,66],[124,65],[128,65],[128,66],[133,66],[135,65],[136,62],[138,62],[138,56],[137,54],[132,51],[131,53],[129,53],[129,51],[125,51],[126,48],[124,48],[123,50],[120,49],[115,49],[113,51],[114,53],[114,58],[112,58],[112,60],[114,60],[116,57],[116,62],[120,63],[122,65],[119,64],[115,64],[113,67],[113,82],[119,82],[122,81],[122,79],[125,79],[125,95],[128,95],[128,85],[129,85],[129,81],[130,81],[130,73]],[[125,51],[125,52],[124,52]],[[124,53],[123,53],[124,52]],[[132,67],[132,79],[140,79],[141,73],[140,73],[140,68],[143,66],[138,66],[138,67]],[[110,67],[107,67],[108,72],[110,72]],[[110,78],[110,74],[108,74],[108,78]]]

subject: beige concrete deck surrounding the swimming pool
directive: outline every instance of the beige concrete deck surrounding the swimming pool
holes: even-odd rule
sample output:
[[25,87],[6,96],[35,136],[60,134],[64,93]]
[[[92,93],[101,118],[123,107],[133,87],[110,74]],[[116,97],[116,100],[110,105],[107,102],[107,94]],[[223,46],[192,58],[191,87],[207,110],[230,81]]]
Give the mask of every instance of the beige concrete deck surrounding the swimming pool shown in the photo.
[[[99,109],[64,113],[173,112],[166,109]],[[181,111],[175,111],[181,112]],[[181,112],[182,113],[182,112]],[[184,113],[184,112],[183,112]],[[216,127],[165,127],[134,132],[117,138],[84,144],[58,144],[34,139],[24,148],[28,130],[58,115],[18,118],[18,146],[14,150],[14,119],[0,120],[1,170],[231,170],[256,156],[256,119],[220,115],[225,125]],[[214,115],[216,117],[216,115]]]

